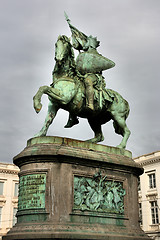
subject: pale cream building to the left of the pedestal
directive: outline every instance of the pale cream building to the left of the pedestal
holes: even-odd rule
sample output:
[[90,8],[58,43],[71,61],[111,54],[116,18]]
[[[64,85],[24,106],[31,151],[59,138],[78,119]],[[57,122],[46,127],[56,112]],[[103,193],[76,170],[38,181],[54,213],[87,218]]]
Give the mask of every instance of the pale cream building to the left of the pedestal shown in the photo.
[[16,223],[18,172],[14,164],[0,163],[0,239]]

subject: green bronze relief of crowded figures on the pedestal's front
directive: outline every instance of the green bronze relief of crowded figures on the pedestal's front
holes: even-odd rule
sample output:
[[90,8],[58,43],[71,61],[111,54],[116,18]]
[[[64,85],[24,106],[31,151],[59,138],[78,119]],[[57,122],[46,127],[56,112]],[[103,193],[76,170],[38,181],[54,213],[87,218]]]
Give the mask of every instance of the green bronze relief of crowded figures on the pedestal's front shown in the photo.
[[74,210],[124,213],[122,182],[96,173],[93,178],[74,176]]

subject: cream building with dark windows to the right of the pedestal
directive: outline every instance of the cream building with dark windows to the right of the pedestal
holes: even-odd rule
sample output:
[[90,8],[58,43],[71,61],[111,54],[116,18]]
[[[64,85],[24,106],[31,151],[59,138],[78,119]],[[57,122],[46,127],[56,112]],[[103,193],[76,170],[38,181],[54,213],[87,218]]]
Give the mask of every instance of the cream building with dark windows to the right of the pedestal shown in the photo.
[[138,184],[140,225],[152,239],[160,240],[160,151],[134,160],[144,168]]

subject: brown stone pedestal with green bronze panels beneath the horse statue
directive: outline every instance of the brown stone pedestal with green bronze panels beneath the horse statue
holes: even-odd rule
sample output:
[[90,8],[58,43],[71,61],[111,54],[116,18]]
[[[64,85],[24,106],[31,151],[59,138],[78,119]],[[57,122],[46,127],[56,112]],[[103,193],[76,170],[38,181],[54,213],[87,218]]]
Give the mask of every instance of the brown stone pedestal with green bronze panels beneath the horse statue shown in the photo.
[[131,153],[59,137],[28,140],[20,168],[17,224],[3,240],[149,239],[138,223]]

